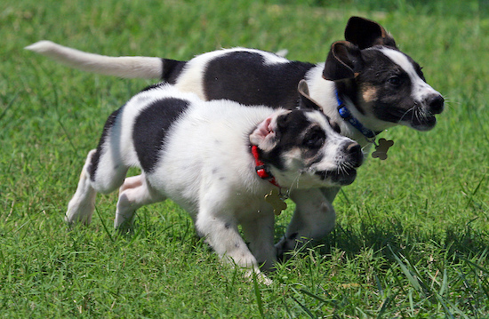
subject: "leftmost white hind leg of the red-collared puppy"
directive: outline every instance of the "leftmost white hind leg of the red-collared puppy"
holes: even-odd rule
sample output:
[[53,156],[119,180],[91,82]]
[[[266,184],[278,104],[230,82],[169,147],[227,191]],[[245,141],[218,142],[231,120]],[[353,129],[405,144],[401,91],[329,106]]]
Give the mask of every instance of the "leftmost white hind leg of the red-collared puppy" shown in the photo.
[[75,195],[73,195],[68,203],[68,211],[65,215],[65,221],[70,225],[76,222],[88,225],[92,221],[92,213],[95,209],[95,196],[97,195],[97,191],[92,187],[88,168],[92,163],[92,156],[95,152],[96,150],[92,149],[88,153],[84,168],[80,174],[80,180],[78,181]]

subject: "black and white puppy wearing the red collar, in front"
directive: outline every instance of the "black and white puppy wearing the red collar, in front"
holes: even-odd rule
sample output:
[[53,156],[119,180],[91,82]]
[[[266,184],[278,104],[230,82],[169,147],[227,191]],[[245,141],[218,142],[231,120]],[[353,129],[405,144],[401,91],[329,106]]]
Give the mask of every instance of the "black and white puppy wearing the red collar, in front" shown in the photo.
[[[277,187],[348,185],[363,160],[357,142],[335,132],[305,82],[300,85],[294,110],[203,101],[170,84],[140,92],[108,117],[66,220],[89,223],[95,195],[118,187],[115,227],[130,227],[142,205],[171,198],[220,257],[257,272],[261,264],[271,267],[274,212],[265,195]],[[142,174],[125,179],[130,167]],[[263,168],[272,180],[259,176]]]

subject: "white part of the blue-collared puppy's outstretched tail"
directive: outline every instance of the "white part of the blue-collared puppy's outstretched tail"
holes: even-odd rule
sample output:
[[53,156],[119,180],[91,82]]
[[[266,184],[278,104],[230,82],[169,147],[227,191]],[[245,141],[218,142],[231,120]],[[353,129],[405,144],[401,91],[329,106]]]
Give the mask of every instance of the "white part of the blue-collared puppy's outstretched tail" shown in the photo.
[[78,51],[51,41],[39,41],[26,47],[68,65],[87,72],[126,78],[162,79],[164,59],[149,57],[108,57]]

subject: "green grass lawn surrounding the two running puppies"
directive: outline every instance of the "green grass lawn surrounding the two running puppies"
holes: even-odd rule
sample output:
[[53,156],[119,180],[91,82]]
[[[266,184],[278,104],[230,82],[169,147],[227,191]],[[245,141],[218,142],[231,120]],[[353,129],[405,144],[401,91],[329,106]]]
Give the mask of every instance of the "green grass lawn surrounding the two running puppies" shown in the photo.
[[[461,5],[464,4],[464,5]],[[489,20],[485,1],[54,1],[0,4],[0,316],[489,317]],[[112,230],[63,215],[107,116],[148,81],[94,76],[23,47],[186,60],[219,47],[325,60],[350,15],[378,20],[446,98],[431,132],[397,127],[335,201],[338,225],[264,286],[221,265],[172,202]],[[277,219],[283,234],[292,207]]]

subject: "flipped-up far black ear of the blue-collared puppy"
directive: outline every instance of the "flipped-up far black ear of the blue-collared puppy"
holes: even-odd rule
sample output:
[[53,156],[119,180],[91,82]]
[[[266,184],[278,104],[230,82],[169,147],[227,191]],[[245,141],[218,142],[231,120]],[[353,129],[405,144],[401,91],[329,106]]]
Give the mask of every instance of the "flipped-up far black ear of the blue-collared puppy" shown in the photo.
[[397,49],[396,41],[389,32],[373,21],[360,17],[351,17],[345,28],[345,40],[355,44],[360,50],[373,45],[386,45]]

